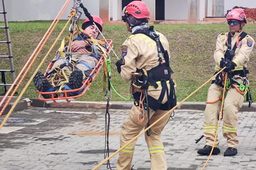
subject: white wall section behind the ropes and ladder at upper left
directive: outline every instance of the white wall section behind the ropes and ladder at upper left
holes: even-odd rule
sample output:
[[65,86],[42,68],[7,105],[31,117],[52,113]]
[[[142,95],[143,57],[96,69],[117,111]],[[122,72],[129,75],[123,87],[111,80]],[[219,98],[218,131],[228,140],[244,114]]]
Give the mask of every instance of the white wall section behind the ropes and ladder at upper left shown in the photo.
[[[2,0],[1,0],[2,1]],[[31,20],[54,20],[66,0],[5,0],[8,21],[31,21]],[[99,15],[99,0],[83,0],[83,5],[90,14]],[[62,16],[62,20],[67,20],[73,0]],[[90,6],[90,7],[89,7]],[[3,11],[2,2],[0,11]],[[82,11],[81,19],[85,18]],[[3,15],[3,14],[1,14]],[[3,17],[0,17],[3,21]]]

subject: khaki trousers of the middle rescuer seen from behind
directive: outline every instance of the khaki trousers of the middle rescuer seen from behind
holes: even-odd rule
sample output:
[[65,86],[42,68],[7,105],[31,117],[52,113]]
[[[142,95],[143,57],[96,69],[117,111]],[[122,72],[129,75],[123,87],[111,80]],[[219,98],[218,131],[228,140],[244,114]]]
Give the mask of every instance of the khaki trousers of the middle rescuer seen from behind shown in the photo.
[[[157,96],[154,96],[155,94],[153,93],[155,92],[157,92]],[[148,91],[148,95],[158,99],[160,92],[161,91],[159,90]],[[162,103],[165,103],[166,101],[167,101],[167,97],[165,95]],[[140,123],[137,118],[138,109],[139,107],[136,107],[135,105],[133,105],[128,117],[125,119],[125,122],[122,125],[121,134],[120,134],[121,147],[126,143],[128,143],[135,136],[137,136],[140,133],[140,131],[143,130],[144,127],[146,128],[146,125],[148,122],[147,111],[145,111],[144,122]],[[163,116],[166,112],[168,111],[162,111],[162,110],[154,111],[150,109],[150,121],[149,121],[150,125],[154,123],[157,119],[159,119],[161,116]],[[147,136],[147,134],[145,134],[145,141],[148,145],[148,150],[149,150],[150,159],[151,159],[151,170],[167,170],[166,157],[165,157],[163,142],[160,134],[163,128],[165,127],[166,123],[168,122],[169,120],[168,118],[170,114],[167,115],[162,120],[160,120],[159,122],[157,122],[156,125],[151,127],[151,136]],[[131,144],[128,144],[127,147],[125,147],[119,152],[119,158],[118,158],[117,167],[115,168],[115,170],[131,169],[131,162],[132,162],[136,142],[137,142],[137,139],[131,142]]]

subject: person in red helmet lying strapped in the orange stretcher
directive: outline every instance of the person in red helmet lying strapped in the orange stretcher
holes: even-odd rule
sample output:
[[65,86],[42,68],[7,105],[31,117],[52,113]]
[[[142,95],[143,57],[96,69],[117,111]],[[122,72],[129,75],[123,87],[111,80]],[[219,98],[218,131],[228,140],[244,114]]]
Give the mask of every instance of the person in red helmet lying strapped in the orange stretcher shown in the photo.
[[[92,17],[96,26],[102,31],[103,23],[101,18],[96,15],[93,15]],[[37,72],[33,82],[38,91],[55,91],[55,86],[60,85],[61,83],[56,82],[58,81],[56,78],[58,76],[56,76],[56,74],[62,72],[62,70],[65,72],[64,74],[69,77],[68,82],[63,86],[65,90],[77,89],[83,85],[83,79],[91,73],[92,69],[99,62],[99,58],[103,55],[103,48],[99,47],[101,41],[97,40],[98,45],[93,45],[93,42],[88,40],[88,38],[90,38],[88,35],[91,35],[93,39],[96,39],[99,36],[99,31],[96,26],[94,26],[88,18],[84,20],[82,24],[84,34],[81,34],[80,37],[74,39],[71,45],[71,63],[67,61],[69,59],[61,57],[59,51],[57,51],[56,58],[52,61],[53,65],[50,68],[50,71],[47,72],[47,76],[45,77],[40,71]],[[66,44],[63,52],[67,49],[67,45],[68,44]],[[67,95],[75,96],[76,94],[68,93]],[[45,94],[43,97],[49,99],[51,98],[51,95]],[[55,97],[58,97],[57,94],[55,94]]]

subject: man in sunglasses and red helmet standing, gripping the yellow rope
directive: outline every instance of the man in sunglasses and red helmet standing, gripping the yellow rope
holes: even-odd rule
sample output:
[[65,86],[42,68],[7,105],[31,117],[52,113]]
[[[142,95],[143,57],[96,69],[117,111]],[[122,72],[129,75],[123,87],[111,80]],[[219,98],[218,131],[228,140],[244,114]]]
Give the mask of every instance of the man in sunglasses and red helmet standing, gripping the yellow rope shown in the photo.
[[[236,89],[234,86],[247,86],[246,79],[247,63],[249,56],[253,50],[254,40],[252,37],[242,31],[242,28],[247,23],[246,15],[241,8],[235,8],[227,14],[227,23],[230,32],[218,35],[216,42],[216,50],[214,60],[216,62],[215,70],[224,68],[224,72],[228,72],[230,86],[233,87],[227,91],[227,96],[224,101],[223,110],[223,136],[227,139],[227,150],[224,156],[235,156],[237,154],[237,113],[241,108],[244,96],[239,93],[243,89]],[[221,75],[223,75],[221,73]],[[220,95],[223,82],[221,75],[212,81],[209,87],[207,100],[213,101]],[[251,101],[250,92],[247,90],[247,101]],[[198,150],[198,154],[209,155],[212,150],[212,145],[215,139],[215,130],[217,128],[218,114],[221,108],[221,100],[218,102],[207,104],[204,114],[204,136],[206,136],[206,145]],[[213,153],[220,153],[218,148],[218,140],[215,142]]]

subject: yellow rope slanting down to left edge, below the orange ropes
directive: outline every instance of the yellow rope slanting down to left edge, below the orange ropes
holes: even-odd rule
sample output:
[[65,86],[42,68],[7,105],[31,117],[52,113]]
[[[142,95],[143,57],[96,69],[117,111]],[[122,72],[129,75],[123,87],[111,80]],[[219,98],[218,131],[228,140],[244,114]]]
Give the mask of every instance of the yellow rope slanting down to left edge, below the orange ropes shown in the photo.
[[3,119],[3,122],[0,125],[0,129],[3,127],[3,125],[5,124],[5,122],[7,121],[7,119],[9,118],[9,116],[11,115],[13,109],[16,107],[16,105],[18,104],[18,102],[20,101],[20,98],[22,97],[22,95],[25,93],[26,89],[29,87],[29,84],[32,82],[33,78],[35,77],[35,74],[38,72],[39,68],[41,68],[41,66],[44,64],[44,61],[47,59],[48,55],[50,54],[50,52],[52,51],[52,48],[54,47],[54,45],[57,43],[57,41],[59,40],[59,38],[61,37],[61,34],[63,34],[63,32],[65,31],[65,28],[67,27],[68,23],[70,22],[71,18],[67,21],[67,23],[65,24],[64,28],[62,28],[60,34],[58,35],[58,37],[56,38],[56,40],[53,42],[52,46],[50,47],[50,49],[48,50],[47,54],[44,56],[44,58],[42,59],[42,61],[40,62],[40,64],[38,65],[38,67],[35,69],[34,74],[30,77],[29,81],[27,82],[27,84],[25,85],[25,87],[23,88],[23,90],[20,92],[20,95],[17,97],[15,103],[12,105],[12,108],[10,109],[10,111],[7,113],[6,117]]

